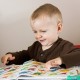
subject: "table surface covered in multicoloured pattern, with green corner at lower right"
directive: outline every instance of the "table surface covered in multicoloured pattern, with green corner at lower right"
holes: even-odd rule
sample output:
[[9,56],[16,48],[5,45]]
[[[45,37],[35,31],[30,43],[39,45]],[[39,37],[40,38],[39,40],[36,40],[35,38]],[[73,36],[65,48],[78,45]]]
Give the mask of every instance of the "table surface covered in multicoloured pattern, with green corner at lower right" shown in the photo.
[[46,72],[43,65],[30,60],[23,65],[0,68],[0,80],[80,80],[80,66],[68,69],[58,67]]

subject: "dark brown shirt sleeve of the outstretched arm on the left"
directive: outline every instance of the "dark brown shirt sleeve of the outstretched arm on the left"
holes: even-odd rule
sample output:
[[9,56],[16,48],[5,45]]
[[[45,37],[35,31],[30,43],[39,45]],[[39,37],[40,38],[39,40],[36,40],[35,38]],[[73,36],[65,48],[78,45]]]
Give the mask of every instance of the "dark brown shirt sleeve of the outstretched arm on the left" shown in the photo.
[[35,55],[35,51],[37,50],[39,43],[38,42],[34,42],[31,46],[28,47],[27,50],[22,50],[19,52],[13,52],[13,53],[7,53],[7,54],[12,54],[12,56],[15,57],[14,60],[9,61],[9,63],[7,65],[11,65],[11,64],[23,64],[25,61],[28,61],[30,59],[33,59],[36,55]]

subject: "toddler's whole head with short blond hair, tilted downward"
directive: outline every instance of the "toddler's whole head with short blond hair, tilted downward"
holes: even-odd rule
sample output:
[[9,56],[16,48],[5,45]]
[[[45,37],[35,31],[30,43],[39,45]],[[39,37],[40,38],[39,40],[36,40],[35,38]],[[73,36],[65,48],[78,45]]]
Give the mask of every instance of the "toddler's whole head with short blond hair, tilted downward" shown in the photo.
[[52,45],[62,28],[61,12],[52,4],[44,4],[33,12],[31,26],[37,41],[43,46]]

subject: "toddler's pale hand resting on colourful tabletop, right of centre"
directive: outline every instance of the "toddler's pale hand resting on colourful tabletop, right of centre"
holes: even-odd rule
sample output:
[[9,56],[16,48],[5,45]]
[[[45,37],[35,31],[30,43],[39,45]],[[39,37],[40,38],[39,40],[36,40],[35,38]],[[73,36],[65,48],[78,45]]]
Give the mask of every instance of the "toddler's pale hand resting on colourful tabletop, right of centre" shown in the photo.
[[62,60],[60,57],[49,60],[48,62],[45,63],[45,68],[46,70],[50,70],[51,67],[58,67],[59,65],[62,64]]

